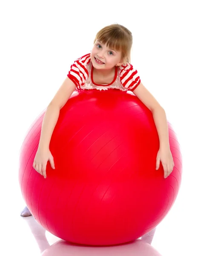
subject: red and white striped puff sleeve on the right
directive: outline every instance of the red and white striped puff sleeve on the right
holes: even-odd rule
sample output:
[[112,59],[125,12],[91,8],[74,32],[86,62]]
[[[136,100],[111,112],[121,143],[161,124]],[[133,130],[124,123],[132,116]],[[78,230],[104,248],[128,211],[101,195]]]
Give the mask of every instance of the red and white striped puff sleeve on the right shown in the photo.
[[126,90],[135,90],[141,82],[138,71],[134,70],[129,63],[122,65],[120,69],[119,78],[122,86],[126,88]]

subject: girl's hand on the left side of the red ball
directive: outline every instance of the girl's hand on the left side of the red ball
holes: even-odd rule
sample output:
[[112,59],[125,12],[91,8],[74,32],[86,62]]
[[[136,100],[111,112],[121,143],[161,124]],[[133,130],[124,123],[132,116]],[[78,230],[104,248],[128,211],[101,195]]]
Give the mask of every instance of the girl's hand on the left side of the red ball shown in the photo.
[[43,175],[44,178],[46,178],[46,166],[48,160],[50,161],[52,169],[55,169],[54,159],[49,148],[38,148],[34,158],[33,168]]

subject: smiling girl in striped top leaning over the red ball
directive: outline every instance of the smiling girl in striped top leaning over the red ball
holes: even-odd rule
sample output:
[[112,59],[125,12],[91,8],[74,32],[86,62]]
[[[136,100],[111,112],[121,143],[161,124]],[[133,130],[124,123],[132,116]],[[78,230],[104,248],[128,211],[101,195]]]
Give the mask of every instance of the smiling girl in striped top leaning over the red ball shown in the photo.
[[[60,109],[66,104],[74,90],[131,90],[152,111],[158,131],[160,148],[156,158],[158,169],[160,161],[164,168],[164,178],[173,170],[174,162],[170,151],[167,118],[164,109],[141,83],[137,70],[129,64],[132,48],[132,33],[124,26],[113,24],[101,29],[94,40],[91,53],[78,58],[49,103],[43,119],[40,142],[34,158],[33,168],[46,178],[48,160],[53,169],[55,163],[49,150],[52,132],[57,123]],[[31,213],[25,207],[22,216]]]

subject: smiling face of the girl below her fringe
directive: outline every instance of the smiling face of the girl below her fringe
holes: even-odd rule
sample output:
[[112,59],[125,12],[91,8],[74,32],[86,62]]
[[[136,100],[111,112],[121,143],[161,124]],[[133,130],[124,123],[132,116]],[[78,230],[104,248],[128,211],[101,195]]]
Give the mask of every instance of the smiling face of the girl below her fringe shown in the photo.
[[[102,44],[96,40],[91,51],[91,61],[93,67],[101,70],[108,70],[122,65],[121,52],[107,48],[106,44]],[[101,63],[102,62],[102,63]]]

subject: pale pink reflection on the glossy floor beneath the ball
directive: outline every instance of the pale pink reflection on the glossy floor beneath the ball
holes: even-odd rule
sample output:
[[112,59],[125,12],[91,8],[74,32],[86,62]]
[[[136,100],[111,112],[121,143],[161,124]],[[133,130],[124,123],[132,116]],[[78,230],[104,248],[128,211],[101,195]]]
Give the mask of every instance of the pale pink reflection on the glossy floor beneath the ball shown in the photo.
[[50,233],[47,236],[48,232],[32,216],[24,217],[23,221],[29,225],[31,233],[40,249],[40,253],[43,256],[61,256],[66,255],[68,252],[68,255],[75,256],[161,256],[155,248],[148,244],[148,242],[152,242],[155,230],[152,230],[141,239],[126,244],[115,246],[84,246],[63,241]]

